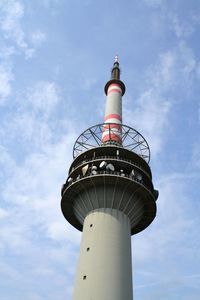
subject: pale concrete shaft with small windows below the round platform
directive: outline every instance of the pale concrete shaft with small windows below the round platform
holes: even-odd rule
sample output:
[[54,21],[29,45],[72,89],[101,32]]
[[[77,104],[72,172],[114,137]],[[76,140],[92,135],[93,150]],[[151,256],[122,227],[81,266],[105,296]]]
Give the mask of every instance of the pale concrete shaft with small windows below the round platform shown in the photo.
[[102,208],[84,221],[74,300],[132,300],[131,232],[121,211]]

